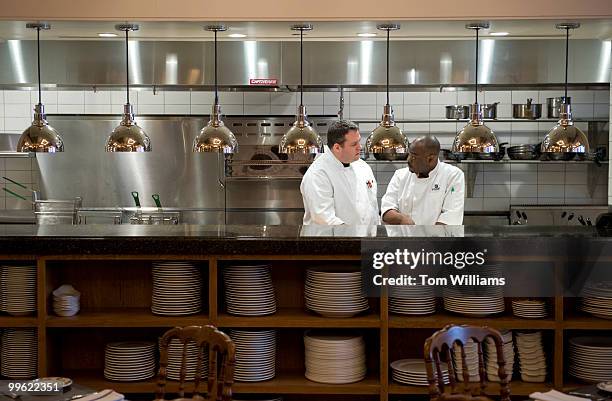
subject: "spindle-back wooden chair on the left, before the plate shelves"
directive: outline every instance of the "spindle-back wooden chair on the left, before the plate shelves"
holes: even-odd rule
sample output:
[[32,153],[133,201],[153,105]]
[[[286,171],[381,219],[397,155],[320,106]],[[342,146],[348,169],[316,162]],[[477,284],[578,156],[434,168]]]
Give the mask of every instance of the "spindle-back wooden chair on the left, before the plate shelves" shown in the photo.
[[[175,327],[164,333],[160,340],[160,362],[155,400],[161,401],[165,399],[168,346],[174,338],[177,338],[183,344],[178,391],[180,398],[178,399],[185,399],[187,343],[193,341],[199,352],[197,371],[194,378],[193,398],[191,399],[230,401],[232,399],[232,384],[234,383],[236,347],[227,334],[217,330],[214,326]],[[200,382],[202,381],[202,365],[205,352],[208,352],[208,378],[206,392],[202,395]],[[219,365],[217,365],[218,361],[220,361]]]

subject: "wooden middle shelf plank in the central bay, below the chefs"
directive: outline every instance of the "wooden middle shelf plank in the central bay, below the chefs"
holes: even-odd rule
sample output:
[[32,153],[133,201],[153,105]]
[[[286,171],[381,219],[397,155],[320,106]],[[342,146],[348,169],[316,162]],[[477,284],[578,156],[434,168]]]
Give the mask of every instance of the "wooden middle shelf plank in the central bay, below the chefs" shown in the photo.
[[274,315],[245,317],[220,313],[219,327],[380,327],[380,316],[370,313],[350,318],[328,318],[299,308],[279,308]]

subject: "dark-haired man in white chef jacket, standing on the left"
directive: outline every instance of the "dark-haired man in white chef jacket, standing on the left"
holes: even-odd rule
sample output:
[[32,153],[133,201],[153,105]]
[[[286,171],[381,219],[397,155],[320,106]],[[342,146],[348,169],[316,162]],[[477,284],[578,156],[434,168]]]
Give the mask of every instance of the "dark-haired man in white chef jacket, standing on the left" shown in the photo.
[[327,131],[325,152],[317,157],[302,178],[304,224],[377,225],[376,179],[359,158],[359,127],[336,121]]

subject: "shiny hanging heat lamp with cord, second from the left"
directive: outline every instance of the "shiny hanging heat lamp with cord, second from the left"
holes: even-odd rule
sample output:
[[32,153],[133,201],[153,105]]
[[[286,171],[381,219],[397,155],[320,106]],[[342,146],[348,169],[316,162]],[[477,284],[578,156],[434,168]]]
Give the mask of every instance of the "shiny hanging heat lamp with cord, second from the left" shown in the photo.
[[123,106],[123,118],[121,123],[111,132],[106,140],[107,152],[150,152],[151,139],[136,121],[134,121],[134,109],[130,104],[130,58],[128,46],[128,33],[137,31],[137,24],[120,24],[115,29],[125,32],[125,93],[126,103]]

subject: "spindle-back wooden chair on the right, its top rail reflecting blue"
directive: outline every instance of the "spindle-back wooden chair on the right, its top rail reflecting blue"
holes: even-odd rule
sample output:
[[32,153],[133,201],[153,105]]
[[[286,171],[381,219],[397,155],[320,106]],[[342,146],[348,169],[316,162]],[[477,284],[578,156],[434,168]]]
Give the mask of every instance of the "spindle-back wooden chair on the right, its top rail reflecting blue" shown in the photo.
[[[490,398],[484,396],[484,390],[487,386],[485,364],[482,352],[482,343],[487,338],[491,337],[495,341],[497,351],[498,376],[500,378],[500,397],[501,401],[510,400],[509,378],[506,374],[506,361],[504,359],[503,345],[504,341],[499,331],[489,327],[478,326],[455,326],[448,325],[442,330],[435,332],[425,341],[425,368],[427,369],[427,381],[429,383],[429,395],[432,401],[485,401]],[[466,353],[464,345],[468,340],[474,340],[478,347],[478,374],[480,378],[479,386],[472,388],[469,384],[469,372],[466,363]],[[463,367],[463,388],[460,390],[455,379],[455,369],[451,357],[451,348],[457,344],[461,350],[461,365]],[[443,354],[448,366],[448,376],[450,391],[444,391],[444,379],[442,376],[442,362],[440,354]],[[457,355],[457,353],[455,353]]]

